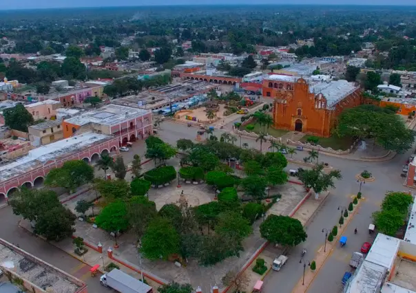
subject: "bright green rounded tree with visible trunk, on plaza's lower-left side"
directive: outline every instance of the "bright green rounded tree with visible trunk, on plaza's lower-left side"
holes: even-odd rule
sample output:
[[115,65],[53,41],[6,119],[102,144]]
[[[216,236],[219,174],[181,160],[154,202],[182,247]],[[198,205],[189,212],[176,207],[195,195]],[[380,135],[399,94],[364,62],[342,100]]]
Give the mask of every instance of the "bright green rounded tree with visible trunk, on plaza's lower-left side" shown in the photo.
[[118,200],[105,206],[101,213],[96,216],[95,224],[108,232],[114,232],[114,239],[117,245],[117,232],[125,231],[129,228],[125,202]]

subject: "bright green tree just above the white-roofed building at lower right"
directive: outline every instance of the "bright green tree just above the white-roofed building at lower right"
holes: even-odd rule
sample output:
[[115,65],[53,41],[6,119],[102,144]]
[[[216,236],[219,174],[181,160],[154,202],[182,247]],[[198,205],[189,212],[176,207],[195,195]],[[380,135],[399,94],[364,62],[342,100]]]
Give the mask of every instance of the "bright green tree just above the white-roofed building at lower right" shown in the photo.
[[373,213],[373,220],[377,230],[389,236],[395,236],[404,225],[404,216],[396,209],[377,211]]

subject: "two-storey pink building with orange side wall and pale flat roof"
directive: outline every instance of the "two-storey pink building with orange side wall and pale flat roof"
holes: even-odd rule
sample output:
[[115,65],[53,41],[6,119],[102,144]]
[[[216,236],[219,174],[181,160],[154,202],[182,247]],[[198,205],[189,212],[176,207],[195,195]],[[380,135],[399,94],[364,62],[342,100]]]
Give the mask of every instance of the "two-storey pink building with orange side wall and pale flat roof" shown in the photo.
[[152,134],[152,111],[109,104],[62,122],[63,137],[87,131],[115,135],[119,144],[142,140]]

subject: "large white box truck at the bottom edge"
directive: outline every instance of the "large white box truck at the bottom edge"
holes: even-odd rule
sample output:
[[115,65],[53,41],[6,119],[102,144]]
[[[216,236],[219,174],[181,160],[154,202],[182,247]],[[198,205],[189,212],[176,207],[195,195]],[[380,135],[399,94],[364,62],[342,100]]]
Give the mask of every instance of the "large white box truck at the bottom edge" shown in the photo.
[[100,278],[101,285],[111,287],[120,293],[152,293],[153,288],[134,279],[121,270],[114,269]]

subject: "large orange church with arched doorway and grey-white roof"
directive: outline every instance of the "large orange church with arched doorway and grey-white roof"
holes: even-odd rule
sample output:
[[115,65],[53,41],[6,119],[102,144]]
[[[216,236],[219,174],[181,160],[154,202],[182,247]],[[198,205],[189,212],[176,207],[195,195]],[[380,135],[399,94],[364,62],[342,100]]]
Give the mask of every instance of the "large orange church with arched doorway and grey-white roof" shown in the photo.
[[273,74],[263,81],[263,96],[274,97],[273,127],[329,137],[335,118],[362,104],[360,87],[346,80],[310,81]]

